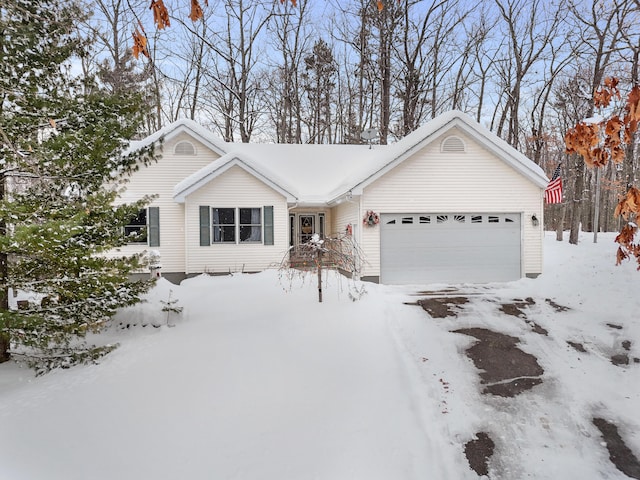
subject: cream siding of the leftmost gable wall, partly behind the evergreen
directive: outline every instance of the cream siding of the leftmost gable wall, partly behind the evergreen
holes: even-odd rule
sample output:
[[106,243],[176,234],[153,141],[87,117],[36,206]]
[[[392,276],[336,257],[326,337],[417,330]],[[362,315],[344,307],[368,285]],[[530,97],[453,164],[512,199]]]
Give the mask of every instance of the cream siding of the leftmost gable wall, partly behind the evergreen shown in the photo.
[[[197,155],[176,155],[177,143],[188,141],[195,147]],[[153,247],[160,252],[162,272],[185,271],[184,205],[173,200],[175,184],[215,161],[218,155],[186,134],[176,135],[165,142],[162,157],[149,166],[141,166],[134,172],[126,185],[121,201],[128,203],[145,195],[156,195],[150,206],[159,207],[160,246]],[[197,239],[197,237],[196,237]],[[115,254],[130,255],[148,250],[147,245],[125,245]]]

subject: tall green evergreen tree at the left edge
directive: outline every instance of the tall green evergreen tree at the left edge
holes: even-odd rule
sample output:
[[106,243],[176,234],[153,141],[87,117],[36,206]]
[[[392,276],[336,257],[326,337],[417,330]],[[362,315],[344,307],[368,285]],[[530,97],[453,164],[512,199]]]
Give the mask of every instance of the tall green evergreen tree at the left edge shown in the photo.
[[[103,255],[125,242],[144,208],[117,188],[151,148],[130,153],[144,116],[139,94],[75,78],[86,52],[74,0],[0,0],[0,362],[18,352],[46,366],[94,358],[87,331],[139,301],[139,257]],[[9,308],[9,292],[33,301]]]

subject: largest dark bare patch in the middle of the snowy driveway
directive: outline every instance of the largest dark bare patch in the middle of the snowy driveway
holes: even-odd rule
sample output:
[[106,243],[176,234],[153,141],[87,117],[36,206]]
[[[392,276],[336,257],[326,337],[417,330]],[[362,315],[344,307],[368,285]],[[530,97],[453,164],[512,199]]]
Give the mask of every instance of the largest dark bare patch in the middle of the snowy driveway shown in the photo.
[[520,350],[517,337],[484,328],[464,328],[454,333],[480,340],[467,349],[467,356],[481,370],[482,383],[490,384],[482,393],[513,397],[542,383],[544,369],[536,357]]

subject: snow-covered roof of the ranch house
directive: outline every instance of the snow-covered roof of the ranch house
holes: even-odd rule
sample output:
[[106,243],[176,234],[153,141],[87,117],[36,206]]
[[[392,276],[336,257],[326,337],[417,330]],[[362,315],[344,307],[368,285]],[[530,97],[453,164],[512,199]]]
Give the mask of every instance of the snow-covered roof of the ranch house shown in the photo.
[[191,120],[179,120],[138,145],[186,132],[221,155],[176,185],[174,198],[178,202],[237,165],[282,193],[289,202],[319,205],[348,193],[361,194],[371,182],[452,128],[463,131],[534,184],[541,188],[547,185],[548,178],[538,165],[460,111],[440,115],[391,145],[227,143]]

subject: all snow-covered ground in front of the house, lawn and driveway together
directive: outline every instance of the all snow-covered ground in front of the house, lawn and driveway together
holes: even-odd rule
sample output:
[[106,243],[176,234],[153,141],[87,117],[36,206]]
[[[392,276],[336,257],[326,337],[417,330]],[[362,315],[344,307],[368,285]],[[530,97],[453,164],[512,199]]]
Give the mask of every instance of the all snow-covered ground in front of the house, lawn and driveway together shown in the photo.
[[[330,276],[319,304],[313,278],[289,288],[275,271],[161,280],[119,315],[129,329],[104,334],[121,346],[100,365],[38,378],[0,365],[0,479],[475,479],[464,445],[481,431],[490,478],[628,478],[592,418],[640,455],[640,272],[614,266],[610,234],[545,242],[542,276],[457,285],[469,303],[446,319],[408,305],[443,285],[365,284],[353,302]],[[500,311],[527,297],[548,335]],[[482,395],[476,340],[451,332],[467,327],[518,337],[543,383]],[[619,353],[631,363],[613,365]]]

